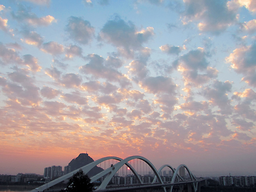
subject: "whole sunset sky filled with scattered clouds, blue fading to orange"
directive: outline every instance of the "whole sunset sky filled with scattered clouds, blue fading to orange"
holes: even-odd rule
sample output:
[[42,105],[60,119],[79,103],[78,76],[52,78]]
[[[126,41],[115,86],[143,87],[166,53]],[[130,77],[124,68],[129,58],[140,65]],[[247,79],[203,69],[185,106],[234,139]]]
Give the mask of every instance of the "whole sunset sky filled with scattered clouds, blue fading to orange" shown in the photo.
[[79,153],[256,175],[255,0],[1,0],[0,174]]

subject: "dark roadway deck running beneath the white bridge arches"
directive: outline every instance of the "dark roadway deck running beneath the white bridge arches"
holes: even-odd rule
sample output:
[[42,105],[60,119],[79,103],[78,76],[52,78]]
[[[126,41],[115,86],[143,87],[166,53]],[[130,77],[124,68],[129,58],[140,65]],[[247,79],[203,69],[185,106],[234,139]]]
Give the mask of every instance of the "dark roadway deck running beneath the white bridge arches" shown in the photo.
[[[204,181],[204,179],[202,180],[198,180],[196,181],[197,183],[200,183]],[[170,182],[165,182],[165,183],[145,183],[145,184],[134,184],[134,185],[121,185],[121,186],[108,186],[106,189],[99,189],[97,190],[97,192],[107,192],[107,191],[132,191],[132,190],[139,190],[139,189],[152,189],[152,188],[162,188],[163,187],[170,187],[170,186],[178,186],[178,185],[187,185],[187,184],[193,184],[195,183],[195,181],[180,181],[180,182],[175,182],[175,183],[170,183]],[[191,189],[188,191],[191,191]],[[199,190],[200,191],[200,186],[199,186]]]

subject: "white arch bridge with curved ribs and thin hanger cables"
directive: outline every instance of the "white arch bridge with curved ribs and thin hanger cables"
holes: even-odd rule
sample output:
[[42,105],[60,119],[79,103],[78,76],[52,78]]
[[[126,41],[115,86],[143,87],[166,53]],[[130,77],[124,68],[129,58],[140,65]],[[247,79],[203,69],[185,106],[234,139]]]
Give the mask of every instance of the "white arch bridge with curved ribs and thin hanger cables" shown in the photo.
[[[141,180],[141,175],[138,174],[138,170],[136,171],[135,169],[135,165],[132,166],[131,161],[135,162],[135,160],[137,159],[140,160],[140,162],[142,161],[142,163],[145,163],[146,166],[148,166],[149,168],[152,169],[152,171],[154,172],[155,178],[153,179],[153,181],[151,183],[148,182],[142,182]],[[172,166],[170,165],[163,165],[161,166],[160,169],[156,169],[155,166],[146,158],[142,157],[142,156],[130,156],[128,158],[122,159],[119,157],[115,157],[115,156],[109,156],[109,157],[104,157],[98,160],[95,160],[92,163],[89,163],[79,169],[82,169],[83,172],[85,174],[87,174],[92,168],[94,168],[95,166],[106,162],[107,160],[116,160],[117,163],[115,163],[114,165],[112,164],[111,166],[109,166],[108,168],[106,168],[104,171],[94,175],[91,177],[91,182],[95,182],[98,179],[102,178],[104,176],[104,180],[101,182],[101,185],[95,190],[95,191],[132,191],[132,190],[139,190],[139,189],[153,189],[153,188],[162,188],[164,192],[172,192],[174,186],[178,186],[180,191],[183,191],[184,186],[187,185],[188,188],[188,192],[192,192],[192,189],[194,192],[200,191],[200,186],[198,187],[198,183],[200,184],[201,180],[198,181],[196,179],[196,177],[191,173],[191,171],[188,169],[188,167],[184,164],[181,164],[177,167],[177,169],[174,169]],[[119,171],[121,170],[121,168],[126,165],[128,167],[128,169],[134,174],[135,178],[137,179],[137,184],[133,184],[133,185],[118,185],[118,186],[112,186],[112,188],[110,189],[108,186],[108,183],[111,181],[111,179],[113,178],[113,176]],[[140,166],[141,167],[141,166]],[[183,177],[181,177],[178,172],[179,170],[184,167],[188,173],[189,179],[184,179]],[[165,182],[163,181],[163,179],[160,176],[161,171],[164,168],[170,168],[173,176],[171,181],[169,182]],[[183,169],[184,169],[183,168]],[[72,171],[66,175],[63,175],[53,181],[50,181],[36,189],[33,189],[30,192],[42,192],[45,191],[47,188],[52,187],[53,185],[56,185],[62,181],[64,181],[65,179],[69,179],[70,177],[73,176],[74,173],[78,172],[79,169],[76,169],[75,171]],[[138,169],[138,164],[137,164],[137,169]],[[144,165],[143,165],[143,169],[144,169]],[[143,178],[143,177],[142,177]]]

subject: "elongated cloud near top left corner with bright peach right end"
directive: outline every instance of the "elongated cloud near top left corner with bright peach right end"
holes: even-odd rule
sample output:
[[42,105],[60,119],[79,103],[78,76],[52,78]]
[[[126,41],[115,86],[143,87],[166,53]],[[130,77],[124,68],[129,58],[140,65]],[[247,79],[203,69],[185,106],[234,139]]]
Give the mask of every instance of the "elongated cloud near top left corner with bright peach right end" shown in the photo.
[[29,9],[20,5],[19,10],[16,13],[12,13],[14,19],[20,22],[26,22],[32,26],[48,26],[53,22],[56,22],[56,19],[53,16],[47,15],[45,17],[37,17],[35,13],[31,13]]

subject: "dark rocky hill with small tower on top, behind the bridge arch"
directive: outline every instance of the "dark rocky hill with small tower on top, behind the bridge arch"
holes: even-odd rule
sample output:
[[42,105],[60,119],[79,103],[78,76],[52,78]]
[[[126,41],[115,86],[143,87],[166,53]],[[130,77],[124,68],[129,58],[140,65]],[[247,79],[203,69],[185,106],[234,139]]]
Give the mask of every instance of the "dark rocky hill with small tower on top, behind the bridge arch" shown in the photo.
[[[88,153],[80,153],[78,155],[77,158],[75,159],[72,159],[70,162],[69,162],[69,166],[71,166],[71,171],[74,171],[76,169],[79,169],[81,168],[82,166],[85,166],[91,162],[93,162],[94,160],[88,155]],[[92,168],[91,171],[89,171],[87,173],[87,175],[89,177],[93,176],[93,175],[96,175],[98,174],[99,172],[103,171],[104,169],[98,167],[98,166],[95,166],[94,168]]]

